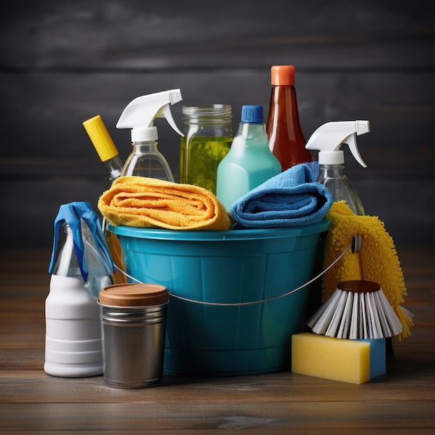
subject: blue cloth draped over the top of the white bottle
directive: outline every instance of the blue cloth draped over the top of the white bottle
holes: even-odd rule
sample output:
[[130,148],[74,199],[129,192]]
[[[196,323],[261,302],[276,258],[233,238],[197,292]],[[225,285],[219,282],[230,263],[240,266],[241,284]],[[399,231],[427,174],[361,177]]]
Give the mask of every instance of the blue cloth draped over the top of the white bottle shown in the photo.
[[97,246],[99,247],[101,253],[104,254],[104,256],[106,257],[106,260],[110,265],[110,269],[112,270],[112,272],[114,271],[112,257],[110,256],[110,250],[107,245],[106,239],[104,238],[104,233],[101,229],[101,224],[99,223],[97,213],[93,211],[92,206],[88,202],[78,201],[70,202],[69,204],[62,204],[59,208],[58,215],[54,220],[54,241],[53,250],[51,252],[49,273],[51,273],[51,270],[53,270],[54,261],[56,259],[60,226],[63,224],[63,222],[67,222],[72,231],[74,249],[76,251],[77,259],[79,260],[81,276],[83,277],[83,281],[88,281],[88,268],[85,261],[83,261],[85,247],[81,235],[82,219],[86,222],[91,233],[95,236]]

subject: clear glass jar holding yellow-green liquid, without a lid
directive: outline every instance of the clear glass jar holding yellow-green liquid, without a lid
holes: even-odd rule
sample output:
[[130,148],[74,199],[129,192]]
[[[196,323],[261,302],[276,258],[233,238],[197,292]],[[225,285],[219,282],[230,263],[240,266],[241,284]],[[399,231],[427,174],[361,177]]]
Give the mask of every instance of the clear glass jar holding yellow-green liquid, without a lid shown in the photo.
[[183,106],[180,143],[180,183],[216,194],[216,174],[233,141],[229,104]]

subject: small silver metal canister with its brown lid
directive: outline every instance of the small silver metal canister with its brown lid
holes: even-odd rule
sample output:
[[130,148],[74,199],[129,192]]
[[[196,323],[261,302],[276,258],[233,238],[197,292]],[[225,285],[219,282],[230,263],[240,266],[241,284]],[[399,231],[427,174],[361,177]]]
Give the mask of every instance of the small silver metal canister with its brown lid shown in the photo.
[[155,386],[163,375],[169,292],[158,284],[117,284],[99,293],[104,381]]

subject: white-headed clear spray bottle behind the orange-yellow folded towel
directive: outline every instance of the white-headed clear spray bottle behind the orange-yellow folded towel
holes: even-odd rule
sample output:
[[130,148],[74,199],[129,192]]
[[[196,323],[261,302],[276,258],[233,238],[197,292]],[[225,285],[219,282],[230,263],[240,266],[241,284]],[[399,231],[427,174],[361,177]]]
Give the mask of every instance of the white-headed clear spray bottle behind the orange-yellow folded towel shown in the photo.
[[172,117],[170,105],[181,101],[179,89],[165,90],[155,94],[142,95],[131,101],[116,124],[117,129],[131,130],[133,152],[126,159],[121,177],[138,176],[174,181],[172,170],[157,149],[157,128],[153,125],[157,117],[166,118],[174,131],[179,131]]

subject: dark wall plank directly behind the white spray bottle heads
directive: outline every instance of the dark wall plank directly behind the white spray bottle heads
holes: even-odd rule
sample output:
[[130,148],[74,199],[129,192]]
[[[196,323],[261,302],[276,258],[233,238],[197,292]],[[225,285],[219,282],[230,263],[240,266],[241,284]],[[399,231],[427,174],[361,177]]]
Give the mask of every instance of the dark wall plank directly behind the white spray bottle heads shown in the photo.
[[[180,127],[183,104],[230,104],[233,133],[242,104],[262,104],[267,113],[270,97],[270,65],[256,72],[0,74],[0,79],[5,87],[0,108],[6,114],[1,173],[30,179],[81,177],[101,181],[101,188],[104,166],[82,126],[89,117],[103,117],[124,160],[131,152],[130,133],[117,130],[115,124],[126,104],[139,95],[181,88],[183,102],[172,107]],[[397,92],[402,83],[407,88]],[[306,139],[324,122],[370,120],[370,133],[359,138],[368,167],[361,167],[343,147],[347,177],[354,181],[418,177],[434,182],[435,152],[427,142],[435,118],[434,95],[432,72],[297,72],[299,115]],[[14,104],[16,99],[20,105]],[[159,149],[177,178],[179,136],[163,120],[156,125]],[[16,131],[21,131],[19,138]]]

